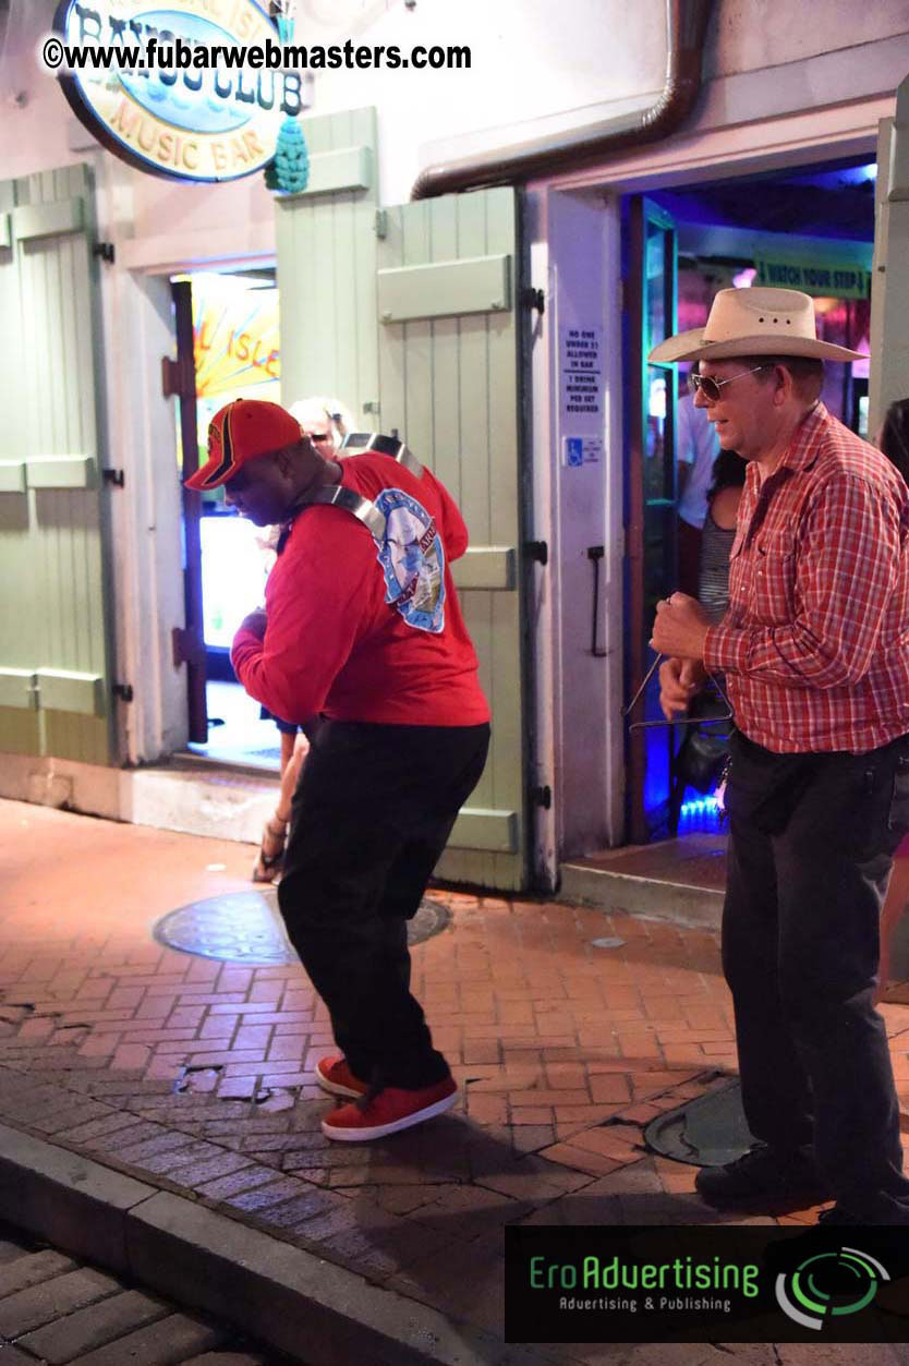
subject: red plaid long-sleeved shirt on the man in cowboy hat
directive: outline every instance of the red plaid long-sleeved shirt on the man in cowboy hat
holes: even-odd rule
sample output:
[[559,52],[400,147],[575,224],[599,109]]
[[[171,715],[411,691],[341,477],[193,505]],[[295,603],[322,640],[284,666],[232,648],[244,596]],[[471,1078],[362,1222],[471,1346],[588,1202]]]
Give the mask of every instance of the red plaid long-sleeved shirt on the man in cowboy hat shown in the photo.
[[909,731],[909,490],[823,403],[763,485],[748,467],[729,564],[704,664],[751,740],[861,754]]

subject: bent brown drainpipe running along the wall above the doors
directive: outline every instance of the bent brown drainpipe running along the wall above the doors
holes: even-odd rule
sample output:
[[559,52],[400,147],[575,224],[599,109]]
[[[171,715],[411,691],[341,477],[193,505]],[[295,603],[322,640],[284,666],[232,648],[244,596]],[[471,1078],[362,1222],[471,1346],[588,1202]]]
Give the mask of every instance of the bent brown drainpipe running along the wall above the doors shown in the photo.
[[666,0],[666,79],[650,108],[504,150],[480,152],[460,161],[427,167],[416,178],[411,199],[431,199],[439,194],[575,171],[624,148],[669,137],[685,122],[700,94],[704,34],[712,7],[712,0]]

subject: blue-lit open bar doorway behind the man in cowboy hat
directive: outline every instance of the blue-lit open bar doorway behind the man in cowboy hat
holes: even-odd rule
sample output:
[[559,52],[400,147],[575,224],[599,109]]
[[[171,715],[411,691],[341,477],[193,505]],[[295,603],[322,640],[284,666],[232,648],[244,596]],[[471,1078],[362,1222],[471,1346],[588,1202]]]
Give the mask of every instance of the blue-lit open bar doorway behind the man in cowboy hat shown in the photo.
[[[689,400],[674,366],[647,363],[665,336],[702,328],[715,294],[752,284],[811,294],[818,335],[868,350],[876,164],[869,157],[818,163],[756,176],[655,190],[624,201],[625,275],[629,280],[626,373],[626,697],[633,697],[654,656],[647,646],[656,600],[678,587],[687,546],[697,542],[719,448],[711,436],[702,455],[691,441]],[[830,413],[868,436],[868,362],[826,365],[822,399]],[[692,410],[703,419],[703,410]],[[688,436],[687,436],[688,433]],[[699,433],[704,436],[704,433]],[[715,444],[715,437],[712,437]],[[691,481],[707,464],[700,503]],[[680,470],[691,467],[680,500]],[[696,572],[696,570],[695,570]],[[656,721],[656,676],[632,721]],[[684,783],[681,727],[647,725],[626,739],[628,829],[632,843],[718,829],[715,783]]]

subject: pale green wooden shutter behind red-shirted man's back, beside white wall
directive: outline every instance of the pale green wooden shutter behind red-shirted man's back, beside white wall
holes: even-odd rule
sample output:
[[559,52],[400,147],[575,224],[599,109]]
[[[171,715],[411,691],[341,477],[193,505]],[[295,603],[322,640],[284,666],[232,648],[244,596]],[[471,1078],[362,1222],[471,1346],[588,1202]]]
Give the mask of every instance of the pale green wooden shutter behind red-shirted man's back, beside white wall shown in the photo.
[[385,210],[378,240],[381,429],[459,503],[453,566],[493,710],[493,744],[439,874],[527,880],[517,205],[512,189]]

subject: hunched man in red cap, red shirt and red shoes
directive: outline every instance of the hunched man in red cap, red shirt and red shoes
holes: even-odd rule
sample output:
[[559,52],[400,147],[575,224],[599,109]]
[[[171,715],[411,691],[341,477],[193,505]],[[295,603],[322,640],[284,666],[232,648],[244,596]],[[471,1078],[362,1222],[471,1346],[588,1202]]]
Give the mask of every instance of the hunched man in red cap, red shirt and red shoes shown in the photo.
[[382,1138],[457,1097],[409,992],[407,921],[489,749],[450,574],[467,529],[400,441],[325,458],[274,403],[221,408],[187,484],[222,484],[257,526],[284,523],[265,612],[246,617],[231,660],[269,712],[313,729],[278,904],[341,1049],[317,1068],[347,1101],[322,1130]]

